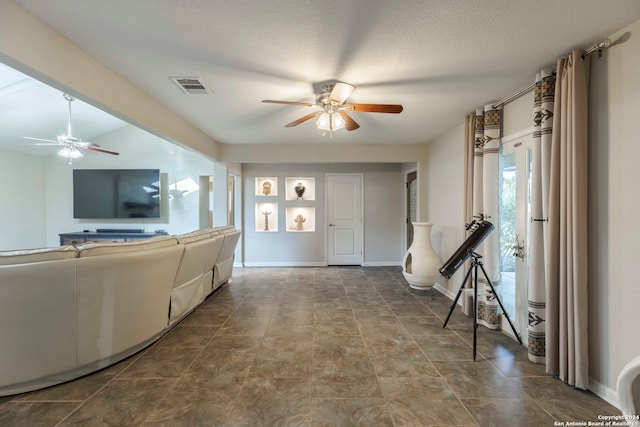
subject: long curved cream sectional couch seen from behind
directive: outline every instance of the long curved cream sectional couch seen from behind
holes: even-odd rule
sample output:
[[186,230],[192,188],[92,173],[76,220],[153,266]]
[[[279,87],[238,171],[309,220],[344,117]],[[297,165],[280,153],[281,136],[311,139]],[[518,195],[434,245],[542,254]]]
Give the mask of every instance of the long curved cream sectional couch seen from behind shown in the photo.
[[240,231],[0,252],[0,396],[148,346],[231,278]]

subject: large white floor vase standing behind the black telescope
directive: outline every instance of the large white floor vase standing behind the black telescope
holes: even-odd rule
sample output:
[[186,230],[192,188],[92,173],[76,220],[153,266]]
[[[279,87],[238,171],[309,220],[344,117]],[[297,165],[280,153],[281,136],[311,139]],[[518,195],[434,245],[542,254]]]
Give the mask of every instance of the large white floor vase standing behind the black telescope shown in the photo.
[[440,278],[440,257],[431,246],[430,222],[414,222],[413,242],[402,260],[402,275],[414,289],[429,289]]

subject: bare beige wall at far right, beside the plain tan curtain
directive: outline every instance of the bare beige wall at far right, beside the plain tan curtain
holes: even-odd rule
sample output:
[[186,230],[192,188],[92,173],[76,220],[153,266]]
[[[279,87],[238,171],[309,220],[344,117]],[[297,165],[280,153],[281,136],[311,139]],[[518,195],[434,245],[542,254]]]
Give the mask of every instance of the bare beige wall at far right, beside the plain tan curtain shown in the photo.
[[609,38],[614,46],[592,58],[589,102],[589,356],[599,394],[640,355],[640,21]]

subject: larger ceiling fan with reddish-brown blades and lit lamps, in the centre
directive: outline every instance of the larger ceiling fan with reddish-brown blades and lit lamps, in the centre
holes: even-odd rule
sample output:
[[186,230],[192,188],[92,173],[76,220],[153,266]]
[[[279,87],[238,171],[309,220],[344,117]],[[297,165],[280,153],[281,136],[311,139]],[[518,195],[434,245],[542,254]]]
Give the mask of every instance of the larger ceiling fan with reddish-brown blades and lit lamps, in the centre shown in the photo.
[[349,83],[336,82],[324,85],[322,91],[316,95],[315,103],[277,101],[273,99],[264,99],[262,102],[317,108],[317,111],[288,123],[285,127],[294,127],[317,117],[316,127],[323,132],[328,131],[330,133],[343,128],[352,131],[360,127],[348,113],[398,114],[403,110],[402,105],[399,104],[346,104],[347,98],[351,96],[355,89],[356,87]]

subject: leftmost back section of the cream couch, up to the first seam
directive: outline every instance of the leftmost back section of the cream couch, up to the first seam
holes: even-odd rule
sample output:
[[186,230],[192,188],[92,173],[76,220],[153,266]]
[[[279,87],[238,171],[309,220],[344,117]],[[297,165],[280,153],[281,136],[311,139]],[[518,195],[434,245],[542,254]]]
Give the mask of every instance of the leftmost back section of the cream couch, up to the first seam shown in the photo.
[[0,266],[0,390],[75,369],[76,261]]

